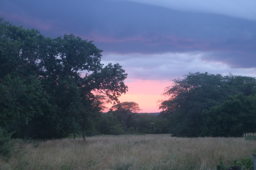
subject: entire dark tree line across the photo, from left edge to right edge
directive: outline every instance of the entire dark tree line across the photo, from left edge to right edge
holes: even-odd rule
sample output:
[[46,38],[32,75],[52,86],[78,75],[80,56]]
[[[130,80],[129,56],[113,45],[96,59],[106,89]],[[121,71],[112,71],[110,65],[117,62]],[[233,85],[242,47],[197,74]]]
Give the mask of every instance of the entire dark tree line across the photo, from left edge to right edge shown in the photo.
[[[158,116],[118,101],[128,87],[118,63],[73,34],[46,38],[0,19],[0,146],[12,138],[171,133],[239,137],[255,132],[254,77],[189,73],[166,87]],[[115,104],[103,113],[104,101]],[[0,148],[1,150],[1,148]]]

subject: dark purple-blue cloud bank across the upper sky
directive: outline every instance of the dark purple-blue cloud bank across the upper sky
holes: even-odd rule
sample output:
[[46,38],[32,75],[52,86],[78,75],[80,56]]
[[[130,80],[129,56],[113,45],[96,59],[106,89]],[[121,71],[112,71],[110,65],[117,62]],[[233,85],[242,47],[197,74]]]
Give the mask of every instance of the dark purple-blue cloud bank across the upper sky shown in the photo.
[[254,2],[191,2],[3,0],[0,15],[46,37],[73,33],[94,40],[104,54],[204,53],[205,62],[255,67]]

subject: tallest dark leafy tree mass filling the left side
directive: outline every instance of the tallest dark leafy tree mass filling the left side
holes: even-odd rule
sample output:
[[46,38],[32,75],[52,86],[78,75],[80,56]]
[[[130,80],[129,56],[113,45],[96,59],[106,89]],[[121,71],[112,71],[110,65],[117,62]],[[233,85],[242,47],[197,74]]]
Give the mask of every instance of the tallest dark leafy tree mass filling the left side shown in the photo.
[[127,91],[122,66],[104,67],[92,41],[73,34],[45,38],[3,19],[0,28],[0,126],[16,137],[88,131],[101,110],[97,96],[115,103]]

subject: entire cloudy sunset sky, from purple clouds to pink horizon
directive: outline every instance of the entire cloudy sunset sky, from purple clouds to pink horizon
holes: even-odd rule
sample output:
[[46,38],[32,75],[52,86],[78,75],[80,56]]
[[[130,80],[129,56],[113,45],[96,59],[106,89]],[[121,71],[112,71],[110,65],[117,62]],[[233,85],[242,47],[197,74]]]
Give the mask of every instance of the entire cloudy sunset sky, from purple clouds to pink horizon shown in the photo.
[[255,0],[1,0],[0,17],[45,37],[92,40],[103,64],[128,73],[120,102],[153,113],[189,72],[256,77],[255,8]]

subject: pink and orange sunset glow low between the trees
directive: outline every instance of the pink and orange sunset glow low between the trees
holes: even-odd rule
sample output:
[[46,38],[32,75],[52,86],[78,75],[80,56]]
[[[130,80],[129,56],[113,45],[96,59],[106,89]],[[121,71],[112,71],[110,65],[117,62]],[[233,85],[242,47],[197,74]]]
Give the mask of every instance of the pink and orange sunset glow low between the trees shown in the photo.
[[[167,80],[134,80],[125,82],[128,86],[128,92],[119,97],[120,102],[135,102],[138,103],[143,113],[160,112],[158,100],[163,100],[162,96],[164,89],[172,83]],[[106,104],[108,108],[112,104]],[[105,110],[108,111],[109,109]]]

